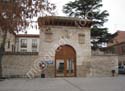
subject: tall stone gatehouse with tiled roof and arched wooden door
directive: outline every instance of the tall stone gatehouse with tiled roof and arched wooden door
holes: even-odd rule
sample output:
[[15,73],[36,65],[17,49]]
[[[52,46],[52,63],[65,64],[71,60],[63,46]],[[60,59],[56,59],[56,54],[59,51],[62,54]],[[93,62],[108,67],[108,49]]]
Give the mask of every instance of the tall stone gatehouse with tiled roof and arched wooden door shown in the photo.
[[80,70],[82,64],[90,62],[91,58],[90,25],[91,22],[88,20],[80,21],[69,17],[39,18],[41,45],[39,56],[48,57],[54,63],[51,66],[53,71],[48,72],[49,74],[82,76],[89,73],[87,68],[86,74]]

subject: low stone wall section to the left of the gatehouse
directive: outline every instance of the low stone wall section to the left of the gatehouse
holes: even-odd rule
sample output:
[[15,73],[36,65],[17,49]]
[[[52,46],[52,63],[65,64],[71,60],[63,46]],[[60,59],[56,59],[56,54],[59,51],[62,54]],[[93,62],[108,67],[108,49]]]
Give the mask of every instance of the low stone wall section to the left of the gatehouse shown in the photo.
[[38,55],[4,55],[2,73],[4,77],[25,77]]

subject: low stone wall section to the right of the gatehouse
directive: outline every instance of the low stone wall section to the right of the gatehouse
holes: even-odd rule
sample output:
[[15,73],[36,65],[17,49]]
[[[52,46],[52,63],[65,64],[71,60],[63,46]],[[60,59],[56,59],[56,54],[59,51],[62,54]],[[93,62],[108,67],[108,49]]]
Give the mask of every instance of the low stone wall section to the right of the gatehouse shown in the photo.
[[90,76],[103,77],[112,76],[111,71],[115,69],[118,73],[118,56],[92,56]]

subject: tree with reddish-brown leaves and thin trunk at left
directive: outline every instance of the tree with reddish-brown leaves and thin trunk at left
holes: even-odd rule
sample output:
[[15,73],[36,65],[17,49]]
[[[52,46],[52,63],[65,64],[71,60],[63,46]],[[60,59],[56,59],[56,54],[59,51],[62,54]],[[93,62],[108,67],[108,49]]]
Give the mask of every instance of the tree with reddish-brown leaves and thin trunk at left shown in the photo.
[[33,23],[34,17],[45,11],[53,14],[54,9],[55,5],[47,0],[0,0],[0,29],[4,33],[0,44],[0,77],[7,32],[23,31]]

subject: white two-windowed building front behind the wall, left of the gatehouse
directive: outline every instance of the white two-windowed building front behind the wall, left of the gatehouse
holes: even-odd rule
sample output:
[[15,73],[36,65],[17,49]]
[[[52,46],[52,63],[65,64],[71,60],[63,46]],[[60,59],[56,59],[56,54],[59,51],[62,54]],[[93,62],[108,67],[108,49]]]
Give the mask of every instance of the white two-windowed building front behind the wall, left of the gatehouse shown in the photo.
[[16,52],[39,52],[39,35],[17,34]]

